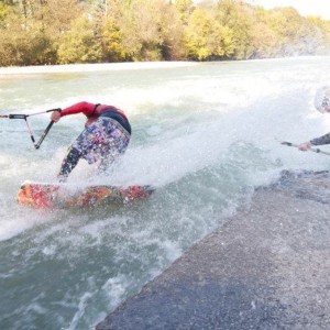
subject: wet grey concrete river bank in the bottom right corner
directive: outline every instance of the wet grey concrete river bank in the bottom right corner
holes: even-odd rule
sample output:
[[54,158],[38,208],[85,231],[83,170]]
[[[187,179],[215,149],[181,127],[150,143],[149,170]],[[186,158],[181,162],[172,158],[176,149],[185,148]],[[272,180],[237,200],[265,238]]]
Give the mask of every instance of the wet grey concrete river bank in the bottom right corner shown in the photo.
[[329,329],[329,173],[284,173],[96,329]]

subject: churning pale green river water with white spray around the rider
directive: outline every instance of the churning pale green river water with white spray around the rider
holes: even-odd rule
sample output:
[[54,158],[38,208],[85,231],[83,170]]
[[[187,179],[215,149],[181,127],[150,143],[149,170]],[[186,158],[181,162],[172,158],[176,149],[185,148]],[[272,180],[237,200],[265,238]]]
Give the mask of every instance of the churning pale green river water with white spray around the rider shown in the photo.
[[[283,169],[328,169],[329,156],[279,142],[330,131],[330,116],[312,106],[315,90],[330,84],[329,59],[0,68],[0,114],[85,100],[130,118],[132,140],[117,167],[95,177],[81,161],[69,183],[156,187],[121,207],[19,206],[24,180],[56,180],[85,119],[63,118],[40,150],[24,120],[0,119],[0,329],[92,329],[249,205],[255,187]],[[37,140],[50,113],[28,121]]]

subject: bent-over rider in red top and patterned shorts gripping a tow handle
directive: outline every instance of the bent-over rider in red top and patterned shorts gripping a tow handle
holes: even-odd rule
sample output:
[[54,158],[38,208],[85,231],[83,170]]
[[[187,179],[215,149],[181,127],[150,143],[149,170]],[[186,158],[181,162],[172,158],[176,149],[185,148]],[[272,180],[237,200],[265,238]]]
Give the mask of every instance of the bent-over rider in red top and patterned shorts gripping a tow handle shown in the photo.
[[58,174],[59,182],[66,182],[80,158],[89,164],[98,163],[99,170],[106,170],[125,152],[131,138],[132,130],[127,116],[113,106],[79,102],[54,111],[51,120],[58,122],[62,117],[76,113],[84,113],[87,122],[68,147]]

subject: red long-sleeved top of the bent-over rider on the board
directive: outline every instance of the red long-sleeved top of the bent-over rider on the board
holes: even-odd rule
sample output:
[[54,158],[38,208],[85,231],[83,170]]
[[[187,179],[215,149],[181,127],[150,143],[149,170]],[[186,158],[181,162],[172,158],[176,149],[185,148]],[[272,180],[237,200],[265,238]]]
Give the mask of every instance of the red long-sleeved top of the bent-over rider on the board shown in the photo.
[[98,119],[98,117],[105,111],[114,111],[120,114],[125,121],[128,121],[127,116],[123,113],[122,110],[113,107],[113,106],[106,106],[106,105],[95,105],[89,102],[79,102],[73,105],[68,108],[65,108],[61,111],[61,117],[68,116],[68,114],[76,114],[76,113],[84,113],[88,120],[86,125],[92,123]]

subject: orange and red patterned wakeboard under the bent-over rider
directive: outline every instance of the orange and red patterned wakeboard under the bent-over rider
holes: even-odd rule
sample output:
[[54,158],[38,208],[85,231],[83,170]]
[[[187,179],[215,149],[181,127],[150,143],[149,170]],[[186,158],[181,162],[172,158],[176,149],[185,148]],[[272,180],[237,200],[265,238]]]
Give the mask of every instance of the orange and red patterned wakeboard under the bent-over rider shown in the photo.
[[147,198],[152,186],[85,186],[25,182],[18,193],[18,202],[35,209],[80,208],[125,205]]

